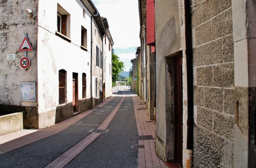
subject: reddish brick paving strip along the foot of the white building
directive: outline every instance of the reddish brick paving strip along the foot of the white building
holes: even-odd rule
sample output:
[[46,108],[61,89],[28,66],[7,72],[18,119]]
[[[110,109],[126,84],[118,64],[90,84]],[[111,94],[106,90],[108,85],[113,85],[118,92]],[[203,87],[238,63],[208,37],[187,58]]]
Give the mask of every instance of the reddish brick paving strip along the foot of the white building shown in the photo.
[[[111,100],[113,100],[115,97],[112,96],[109,99],[105,100],[104,102],[100,103],[96,107],[102,107],[103,105],[107,104]],[[4,136],[0,136],[0,155],[9,151],[12,151],[13,149],[25,146],[27,144],[33,143],[35,141],[38,141],[40,139],[52,136],[56,133],[59,133],[63,130],[65,130],[70,125],[78,122],[83,117],[89,115],[93,112],[94,109],[90,109],[88,111],[82,112],[79,115],[76,115],[74,117],[70,117],[66,120],[63,120],[57,124],[54,124],[52,126],[49,126],[45,129],[41,130],[22,130],[18,132],[13,132],[10,134],[6,134]]]

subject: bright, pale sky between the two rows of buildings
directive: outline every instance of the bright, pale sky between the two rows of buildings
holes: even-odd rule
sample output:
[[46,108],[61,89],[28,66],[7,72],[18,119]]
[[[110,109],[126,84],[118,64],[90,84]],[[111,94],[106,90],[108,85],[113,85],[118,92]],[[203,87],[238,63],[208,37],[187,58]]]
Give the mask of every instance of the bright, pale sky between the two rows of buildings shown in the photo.
[[115,54],[124,63],[124,71],[132,67],[135,48],[140,46],[138,0],[92,0],[101,17],[108,20]]

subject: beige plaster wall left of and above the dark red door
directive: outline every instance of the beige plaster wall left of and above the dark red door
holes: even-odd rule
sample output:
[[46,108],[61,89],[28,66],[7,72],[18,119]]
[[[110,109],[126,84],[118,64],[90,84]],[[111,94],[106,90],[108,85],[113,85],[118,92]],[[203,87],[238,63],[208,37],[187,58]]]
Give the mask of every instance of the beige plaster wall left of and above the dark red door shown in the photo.
[[[156,151],[162,160],[174,159],[172,54],[181,50],[180,2],[155,1]],[[169,58],[169,57],[170,58]],[[170,60],[166,60],[166,58]]]

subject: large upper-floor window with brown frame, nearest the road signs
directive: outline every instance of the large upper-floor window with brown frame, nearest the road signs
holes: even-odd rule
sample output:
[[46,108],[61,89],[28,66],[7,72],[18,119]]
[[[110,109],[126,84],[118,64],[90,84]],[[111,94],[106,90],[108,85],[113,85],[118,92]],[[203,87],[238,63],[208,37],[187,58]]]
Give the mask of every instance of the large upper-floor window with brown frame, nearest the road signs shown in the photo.
[[[56,35],[61,35],[60,37],[68,37],[68,41],[71,41],[70,38],[70,14],[62,8],[59,4],[57,5],[57,31]],[[62,36],[64,35],[64,36]]]

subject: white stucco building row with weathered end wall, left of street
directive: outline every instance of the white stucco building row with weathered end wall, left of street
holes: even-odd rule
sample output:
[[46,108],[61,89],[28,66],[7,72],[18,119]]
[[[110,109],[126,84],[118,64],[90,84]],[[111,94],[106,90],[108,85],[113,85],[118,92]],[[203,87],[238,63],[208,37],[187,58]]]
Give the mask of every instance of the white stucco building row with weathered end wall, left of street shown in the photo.
[[[26,111],[23,125],[40,129],[112,96],[114,43],[107,19],[91,0],[7,0],[0,5],[3,114]],[[26,34],[33,50],[27,51],[31,64],[25,71],[20,66],[25,51],[18,50]],[[15,59],[7,60],[7,54]],[[20,83],[26,82],[36,83],[35,101],[21,101]]]

